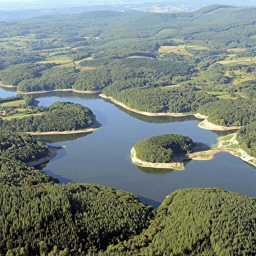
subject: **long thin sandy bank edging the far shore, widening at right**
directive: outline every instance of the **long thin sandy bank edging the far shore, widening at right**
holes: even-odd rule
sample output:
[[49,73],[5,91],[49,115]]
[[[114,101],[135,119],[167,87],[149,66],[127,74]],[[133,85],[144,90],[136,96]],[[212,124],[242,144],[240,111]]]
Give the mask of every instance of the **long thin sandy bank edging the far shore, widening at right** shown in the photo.
[[135,112],[137,114],[142,114],[144,116],[174,116],[174,117],[182,117],[182,116],[195,116],[195,118],[199,118],[199,119],[203,119],[203,121],[200,121],[200,123],[197,125],[198,127],[202,128],[202,129],[206,129],[206,130],[210,130],[210,131],[232,131],[232,130],[236,130],[236,129],[240,129],[239,126],[221,126],[221,125],[215,125],[214,123],[211,123],[210,121],[207,120],[208,116],[204,116],[203,114],[197,113],[197,114],[183,114],[183,113],[152,113],[152,112],[145,112],[145,111],[140,111],[140,110],[136,110],[135,108],[130,108],[129,106],[121,103],[120,101],[117,101],[116,99],[114,99],[113,97],[109,97],[104,95],[103,93],[99,94],[100,97],[102,97],[103,99],[109,99],[110,101],[112,101],[115,104],[118,104],[119,106],[130,110],[132,112]]

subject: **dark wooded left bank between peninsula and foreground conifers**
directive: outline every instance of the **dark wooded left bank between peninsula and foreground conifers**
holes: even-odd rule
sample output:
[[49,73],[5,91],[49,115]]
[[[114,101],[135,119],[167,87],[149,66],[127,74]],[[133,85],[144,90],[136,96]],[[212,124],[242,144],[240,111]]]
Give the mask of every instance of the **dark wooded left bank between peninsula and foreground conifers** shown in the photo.
[[[48,146],[38,138],[1,131],[0,184],[31,186],[42,183],[58,183],[59,181],[52,176],[34,167],[28,167],[26,164],[29,161],[45,157],[47,154]],[[1,237],[3,238],[3,236]]]

